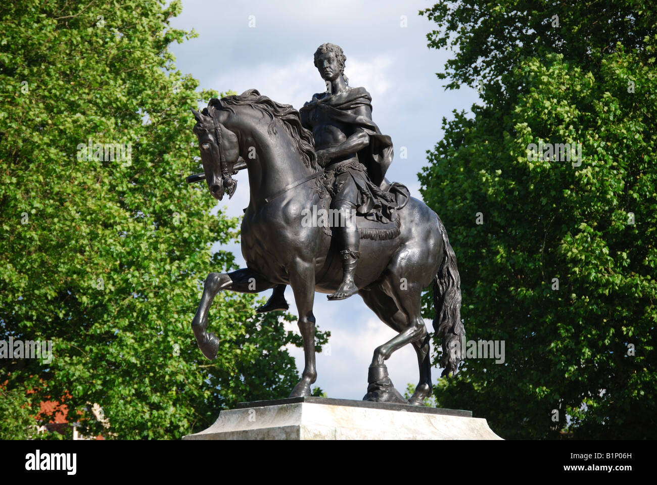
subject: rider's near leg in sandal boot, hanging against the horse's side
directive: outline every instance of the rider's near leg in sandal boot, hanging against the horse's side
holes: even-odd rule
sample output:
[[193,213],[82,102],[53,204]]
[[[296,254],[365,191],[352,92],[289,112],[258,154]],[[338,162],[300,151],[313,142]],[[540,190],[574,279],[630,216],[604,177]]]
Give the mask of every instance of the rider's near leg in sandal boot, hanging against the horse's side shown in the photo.
[[[353,282],[353,275],[358,264],[360,236],[356,227],[355,204],[348,200],[334,200],[332,206],[340,211],[340,243],[342,250],[342,283],[334,292],[327,296],[329,300],[344,300],[358,292]],[[344,216],[343,216],[344,214]]]

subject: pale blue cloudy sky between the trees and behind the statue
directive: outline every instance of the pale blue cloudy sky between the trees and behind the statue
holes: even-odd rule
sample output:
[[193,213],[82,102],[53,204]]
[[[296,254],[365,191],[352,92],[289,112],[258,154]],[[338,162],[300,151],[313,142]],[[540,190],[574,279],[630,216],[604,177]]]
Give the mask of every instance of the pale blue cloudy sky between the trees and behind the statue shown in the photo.
[[[449,51],[426,47],[426,34],[436,24],[418,12],[431,5],[433,2],[419,0],[183,0],[182,14],[171,24],[194,29],[199,37],[174,44],[171,51],[177,57],[177,68],[200,80],[202,88],[233,89],[237,93],[255,88],[298,109],[313,93],[325,91],[324,81],[313,66],[315,49],[325,42],[340,45],[347,57],[345,74],[349,84],[369,91],[373,120],[382,133],[392,137],[395,158],[388,179],[404,183],[411,195],[421,198],[417,173],[426,164],[426,150],[442,137],[443,116],[450,119],[454,109],[469,112],[478,101],[476,91],[467,87],[445,91],[443,81],[436,77]],[[401,147],[406,148],[406,159],[399,158]],[[239,173],[236,178],[235,196],[229,202],[219,202],[217,207],[229,216],[241,216],[242,208],[248,205],[248,177]],[[224,249],[237,256],[240,266],[246,266],[238,244]],[[269,296],[269,292],[263,296]],[[286,298],[296,315],[289,287]],[[317,293],[314,313],[317,325],[331,332],[330,348],[317,354],[315,385],[331,398],[361,400],[367,390],[367,368],[374,348],[395,333],[359,296],[328,302],[324,294]],[[433,331],[431,322],[426,323]],[[303,351],[290,348],[290,353],[301,370]],[[397,351],[386,365],[401,392],[408,382],[417,383],[417,358],[411,346]],[[434,369],[433,381],[439,376],[438,369]]]

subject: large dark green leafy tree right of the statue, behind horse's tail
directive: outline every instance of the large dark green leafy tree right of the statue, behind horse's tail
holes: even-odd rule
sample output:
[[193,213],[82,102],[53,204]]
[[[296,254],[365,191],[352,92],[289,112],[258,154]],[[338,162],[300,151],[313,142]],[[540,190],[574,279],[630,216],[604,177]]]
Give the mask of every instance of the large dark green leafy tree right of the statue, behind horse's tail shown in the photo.
[[[420,13],[440,27],[429,46],[457,51],[447,88],[483,87],[472,118],[443,119],[422,195],[457,254],[468,340],[505,341],[504,363],[466,358],[440,381],[438,405],[505,438],[654,437],[657,9],[473,0]],[[548,158],[561,143],[581,144],[581,164]]]

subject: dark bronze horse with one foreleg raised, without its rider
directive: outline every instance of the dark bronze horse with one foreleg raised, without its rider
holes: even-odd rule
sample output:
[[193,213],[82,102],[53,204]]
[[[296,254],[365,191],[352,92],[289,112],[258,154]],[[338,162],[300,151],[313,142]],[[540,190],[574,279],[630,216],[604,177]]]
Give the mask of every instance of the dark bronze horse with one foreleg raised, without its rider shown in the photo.
[[[208,359],[217,356],[219,340],[206,331],[208,310],[217,292],[257,293],[290,285],[305,355],[302,379],[290,398],[309,396],[317,380],[315,292],[333,293],[342,281],[340,254],[330,228],[307,223],[309,210],[326,210],[330,204],[313,135],[302,126],[297,110],[256,89],[212,99],[202,112],[192,112],[204,173],[191,175],[187,181],[205,179],[210,194],[221,200],[237,188],[231,175],[246,168],[250,189],[241,230],[247,267],[210,273],[206,278],[192,322],[198,348]],[[374,350],[363,400],[424,405],[432,394],[432,381],[430,334],[420,314],[422,289],[433,281],[434,331],[442,336],[442,375],[453,374],[462,359],[461,279],[445,227],[433,210],[409,197],[397,216],[396,224],[359,221],[361,260],[354,278],[358,294],[398,334]],[[409,400],[394,388],[384,364],[406,344],[417,352],[420,373]]]

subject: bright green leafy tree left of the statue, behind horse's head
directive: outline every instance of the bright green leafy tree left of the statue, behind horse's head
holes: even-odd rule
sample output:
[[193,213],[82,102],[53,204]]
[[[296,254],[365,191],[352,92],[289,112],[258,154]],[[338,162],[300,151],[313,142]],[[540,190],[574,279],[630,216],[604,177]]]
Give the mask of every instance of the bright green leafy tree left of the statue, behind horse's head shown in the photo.
[[217,93],[176,70],[168,45],[196,34],[170,27],[181,4],[167,3],[0,7],[0,340],[52,340],[54,354],[0,360],[15,404],[2,422],[66,396],[82,434],[179,438],[298,380],[294,317],[256,315],[253,295],[217,295],[216,361],[196,348],[202,280],[235,268],[210,246],[235,239],[238,220],[211,216],[206,188],[184,180],[198,171],[189,108]]

